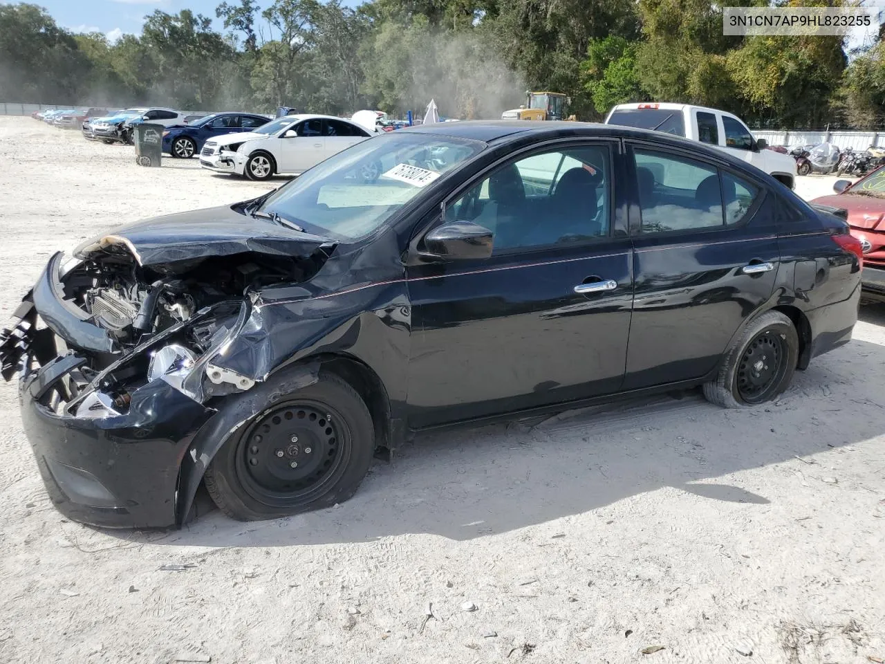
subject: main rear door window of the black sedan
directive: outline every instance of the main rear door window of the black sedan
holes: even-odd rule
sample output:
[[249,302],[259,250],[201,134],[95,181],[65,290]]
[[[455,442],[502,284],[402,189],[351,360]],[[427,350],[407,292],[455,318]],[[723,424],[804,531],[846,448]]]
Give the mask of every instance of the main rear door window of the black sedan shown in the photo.
[[713,166],[635,151],[643,233],[722,226],[722,192]]

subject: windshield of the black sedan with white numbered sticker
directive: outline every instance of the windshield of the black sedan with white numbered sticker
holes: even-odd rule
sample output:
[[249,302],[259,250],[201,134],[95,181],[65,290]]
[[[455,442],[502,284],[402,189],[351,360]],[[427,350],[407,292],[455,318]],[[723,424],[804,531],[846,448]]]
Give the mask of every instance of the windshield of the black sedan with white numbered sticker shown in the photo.
[[260,210],[312,234],[352,242],[380,228],[427,185],[485,147],[424,133],[378,135],[314,166]]

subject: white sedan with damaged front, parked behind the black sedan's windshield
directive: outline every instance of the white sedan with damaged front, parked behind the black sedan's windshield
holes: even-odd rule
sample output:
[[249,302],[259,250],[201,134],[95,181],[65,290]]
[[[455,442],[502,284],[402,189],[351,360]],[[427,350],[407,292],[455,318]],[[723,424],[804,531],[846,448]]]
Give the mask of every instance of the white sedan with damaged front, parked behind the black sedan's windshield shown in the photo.
[[200,166],[216,173],[267,180],[300,175],[327,157],[376,135],[368,127],[330,115],[287,115],[251,132],[206,141]]

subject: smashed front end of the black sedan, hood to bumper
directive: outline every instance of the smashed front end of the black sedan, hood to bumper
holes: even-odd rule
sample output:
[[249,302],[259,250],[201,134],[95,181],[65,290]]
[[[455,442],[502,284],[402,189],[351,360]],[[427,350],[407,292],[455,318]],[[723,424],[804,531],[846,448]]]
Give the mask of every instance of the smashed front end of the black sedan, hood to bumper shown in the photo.
[[180,524],[190,441],[222,399],[255,382],[225,366],[227,346],[263,287],[310,279],[335,249],[227,212],[212,225],[166,218],[55,254],[0,333],[0,370],[7,381],[19,374],[44,483],[77,521]]

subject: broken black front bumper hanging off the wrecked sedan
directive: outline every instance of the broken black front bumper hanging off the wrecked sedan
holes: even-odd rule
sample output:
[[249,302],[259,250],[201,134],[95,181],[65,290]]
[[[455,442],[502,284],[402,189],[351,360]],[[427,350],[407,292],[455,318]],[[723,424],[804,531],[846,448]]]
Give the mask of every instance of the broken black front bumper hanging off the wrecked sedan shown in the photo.
[[[112,528],[181,525],[181,462],[213,411],[156,380],[132,392],[125,413],[79,416],[84,392],[76,393],[73,374],[88,363],[84,349],[101,352],[105,340],[53,290],[60,257],[50,259],[11,328],[0,333],[0,366],[7,380],[19,374],[23,428],[46,490],[73,521]],[[157,344],[165,336],[157,335]]]

